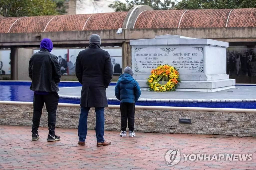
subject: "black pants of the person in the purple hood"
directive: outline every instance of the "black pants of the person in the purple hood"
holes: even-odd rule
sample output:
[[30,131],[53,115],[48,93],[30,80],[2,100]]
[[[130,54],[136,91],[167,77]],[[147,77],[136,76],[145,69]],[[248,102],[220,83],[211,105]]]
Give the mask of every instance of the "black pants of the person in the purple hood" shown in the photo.
[[56,110],[59,103],[59,95],[57,92],[49,93],[46,95],[40,95],[34,93],[34,104],[33,104],[33,125],[32,133],[38,134],[38,128],[40,125],[40,118],[42,115],[42,109],[44,104],[46,106],[46,111],[48,112],[48,127],[49,134],[55,135],[55,123],[56,123]]

